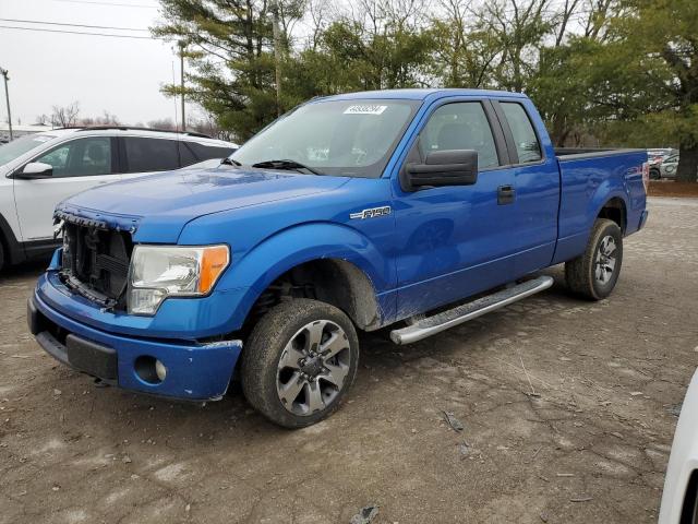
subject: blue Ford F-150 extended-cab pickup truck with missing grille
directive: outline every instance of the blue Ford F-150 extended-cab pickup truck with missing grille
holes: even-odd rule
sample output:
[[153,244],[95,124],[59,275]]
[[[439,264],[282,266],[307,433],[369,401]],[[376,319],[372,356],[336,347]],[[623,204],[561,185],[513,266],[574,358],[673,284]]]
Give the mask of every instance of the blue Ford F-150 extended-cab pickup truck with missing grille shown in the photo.
[[121,388],[220,398],[272,421],[337,408],[359,331],[409,344],[538,293],[613,290],[647,219],[647,153],[553,148],[524,95],[313,99],[215,168],[117,182],[56,210],[28,301],[58,360]]

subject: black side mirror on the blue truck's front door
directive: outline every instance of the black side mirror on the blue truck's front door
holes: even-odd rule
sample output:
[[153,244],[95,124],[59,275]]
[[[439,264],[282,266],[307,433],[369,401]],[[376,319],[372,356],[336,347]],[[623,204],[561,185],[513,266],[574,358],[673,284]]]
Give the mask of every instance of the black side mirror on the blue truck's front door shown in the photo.
[[471,186],[478,181],[478,152],[433,151],[426,155],[424,164],[407,164],[405,172],[411,188]]

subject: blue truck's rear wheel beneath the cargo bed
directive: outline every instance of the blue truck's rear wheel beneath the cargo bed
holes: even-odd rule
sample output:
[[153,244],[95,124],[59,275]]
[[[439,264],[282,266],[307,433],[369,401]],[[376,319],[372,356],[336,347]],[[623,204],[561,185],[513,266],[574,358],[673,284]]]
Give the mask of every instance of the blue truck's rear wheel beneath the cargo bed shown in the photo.
[[[610,259],[603,253],[611,246],[609,238],[612,238],[615,243],[612,271],[609,271]],[[591,228],[583,254],[565,263],[567,287],[575,294],[591,300],[604,299],[613,291],[622,264],[623,233],[615,222],[599,218]],[[603,282],[601,277],[604,278]]]

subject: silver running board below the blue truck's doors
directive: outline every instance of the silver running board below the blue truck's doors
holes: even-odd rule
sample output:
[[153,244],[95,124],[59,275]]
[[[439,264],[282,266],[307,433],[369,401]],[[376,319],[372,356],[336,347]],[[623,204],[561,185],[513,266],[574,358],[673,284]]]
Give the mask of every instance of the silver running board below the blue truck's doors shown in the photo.
[[535,295],[552,285],[553,278],[551,276],[539,276],[538,278],[526,281],[516,286],[488,295],[486,297],[478,298],[472,302],[467,302],[454,309],[436,313],[433,317],[420,319],[416,323],[401,330],[394,330],[390,332],[390,340],[395,344],[411,344],[412,342],[421,341],[428,336],[441,333],[448,327],[462,324],[491,311],[504,308],[522,298]]

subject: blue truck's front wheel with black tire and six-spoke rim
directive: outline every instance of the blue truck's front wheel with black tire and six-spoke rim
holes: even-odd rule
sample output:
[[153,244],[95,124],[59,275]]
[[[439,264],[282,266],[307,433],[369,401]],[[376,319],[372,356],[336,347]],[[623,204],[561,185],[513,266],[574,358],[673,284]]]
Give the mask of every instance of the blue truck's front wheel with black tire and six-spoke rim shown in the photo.
[[[311,344],[309,326],[320,329],[320,338],[325,342]],[[341,346],[342,349],[335,357],[324,360],[321,353],[323,347],[329,345],[327,341],[338,341],[335,347]],[[288,349],[291,345],[292,348]],[[298,355],[303,356],[302,360],[294,359]],[[299,366],[280,369],[282,356],[285,361],[299,362]],[[340,357],[341,361],[338,360]],[[300,362],[304,365],[300,366]],[[242,353],[242,391],[248,402],[270,421],[285,428],[304,428],[337,409],[353,383],[358,365],[359,338],[351,320],[342,311],[318,300],[290,300],[275,306],[252,330]],[[340,382],[340,386],[327,381],[332,373],[318,371],[316,366],[327,366],[325,371],[339,370],[337,377],[342,374],[341,380],[333,380]],[[298,377],[297,380],[293,377]],[[277,390],[279,384],[280,388],[294,384],[296,390],[301,383],[304,385],[296,401],[300,398],[302,402],[281,400],[281,390]],[[311,410],[310,396],[315,402],[321,398],[324,407]]]

